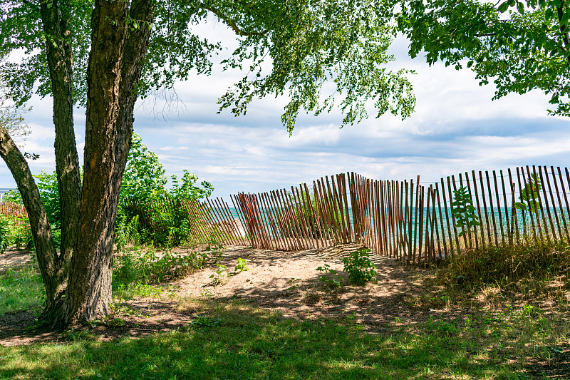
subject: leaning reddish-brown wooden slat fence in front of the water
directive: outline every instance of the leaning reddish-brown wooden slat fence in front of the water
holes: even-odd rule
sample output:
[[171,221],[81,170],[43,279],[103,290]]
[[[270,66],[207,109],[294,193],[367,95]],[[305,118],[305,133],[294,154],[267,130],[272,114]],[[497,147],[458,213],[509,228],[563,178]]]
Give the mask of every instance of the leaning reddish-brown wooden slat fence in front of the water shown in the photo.
[[[480,222],[469,231],[452,213],[459,188]],[[426,185],[419,175],[394,181],[347,173],[291,191],[242,192],[231,196],[233,207],[219,198],[185,206],[200,240],[286,251],[356,242],[419,263],[473,247],[568,240],[569,190],[569,170],[552,166],[472,170]]]

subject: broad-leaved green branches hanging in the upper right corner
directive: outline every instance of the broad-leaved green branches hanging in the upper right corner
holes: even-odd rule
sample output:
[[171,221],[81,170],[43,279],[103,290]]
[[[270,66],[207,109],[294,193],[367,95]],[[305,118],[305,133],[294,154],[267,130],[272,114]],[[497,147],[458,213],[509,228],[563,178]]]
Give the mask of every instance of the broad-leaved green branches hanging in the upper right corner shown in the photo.
[[570,7],[566,0],[403,1],[398,26],[410,55],[427,63],[464,64],[480,84],[493,81],[494,98],[540,89],[553,115],[570,115]]

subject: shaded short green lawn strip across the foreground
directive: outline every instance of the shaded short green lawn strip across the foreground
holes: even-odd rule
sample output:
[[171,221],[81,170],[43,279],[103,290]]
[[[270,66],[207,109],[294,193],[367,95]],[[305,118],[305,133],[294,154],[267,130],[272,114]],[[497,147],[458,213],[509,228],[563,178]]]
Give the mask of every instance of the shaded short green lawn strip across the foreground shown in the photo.
[[202,317],[177,331],[0,348],[0,379],[524,379],[527,355],[568,344],[567,331],[527,309],[367,332],[351,317],[285,319],[236,301],[185,306]]

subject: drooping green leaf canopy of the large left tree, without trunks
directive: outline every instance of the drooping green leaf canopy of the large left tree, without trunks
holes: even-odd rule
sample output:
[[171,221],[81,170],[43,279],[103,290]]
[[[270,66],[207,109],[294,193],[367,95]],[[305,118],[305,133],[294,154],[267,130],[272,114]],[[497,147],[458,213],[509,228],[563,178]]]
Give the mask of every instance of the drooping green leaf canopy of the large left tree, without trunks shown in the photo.
[[[0,5],[0,54],[19,50],[19,63],[4,63],[2,76],[18,102],[32,93],[48,96],[51,81],[46,64],[46,34],[39,19],[39,0],[6,0]],[[224,46],[195,33],[209,16],[231,28],[237,48],[222,61],[224,69],[239,68],[241,81],[219,98],[220,110],[246,113],[254,98],[287,96],[281,120],[291,132],[301,110],[321,113],[337,102],[343,124],[367,116],[372,103],[377,115],[410,115],[415,105],[405,70],[390,72],[384,64],[395,29],[388,3],[372,0],[228,1],[167,0],[155,2],[155,22],[129,20],[131,30],[150,27],[150,48],[138,85],[145,97],[157,88],[172,88],[191,71],[210,73],[212,58]],[[86,67],[90,50],[89,0],[60,0],[61,14],[69,16],[73,49],[73,101],[86,101]],[[48,41],[49,43],[49,41]],[[272,63],[267,70],[263,62]],[[322,93],[331,82],[331,93]]]

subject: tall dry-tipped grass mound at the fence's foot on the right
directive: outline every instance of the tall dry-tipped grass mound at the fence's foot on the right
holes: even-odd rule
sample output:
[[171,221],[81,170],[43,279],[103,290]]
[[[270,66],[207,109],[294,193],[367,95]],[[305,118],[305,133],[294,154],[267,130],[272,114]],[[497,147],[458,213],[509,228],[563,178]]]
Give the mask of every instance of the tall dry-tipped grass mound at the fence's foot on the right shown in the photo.
[[435,269],[432,286],[447,304],[497,307],[546,301],[570,312],[570,247],[559,242],[468,250]]

